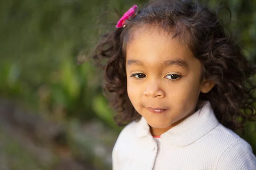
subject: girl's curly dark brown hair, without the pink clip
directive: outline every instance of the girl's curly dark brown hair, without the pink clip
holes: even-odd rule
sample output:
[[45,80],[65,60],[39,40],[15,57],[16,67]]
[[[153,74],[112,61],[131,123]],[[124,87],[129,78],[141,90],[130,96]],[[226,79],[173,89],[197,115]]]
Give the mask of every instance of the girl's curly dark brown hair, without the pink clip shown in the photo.
[[215,82],[209,93],[200,94],[197,108],[202,107],[202,101],[209,100],[218,121],[232,130],[243,129],[246,120],[256,122],[255,85],[250,79],[255,66],[230,38],[217,14],[197,2],[154,0],[127,20],[125,27],[105,34],[93,55],[96,61],[107,59],[104,89],[114,94],[111,103],[117,111],[118,125],[141,117],[128,99],[125,51],[132,31],[145,24],[179,37],[201,61],[204,77]]

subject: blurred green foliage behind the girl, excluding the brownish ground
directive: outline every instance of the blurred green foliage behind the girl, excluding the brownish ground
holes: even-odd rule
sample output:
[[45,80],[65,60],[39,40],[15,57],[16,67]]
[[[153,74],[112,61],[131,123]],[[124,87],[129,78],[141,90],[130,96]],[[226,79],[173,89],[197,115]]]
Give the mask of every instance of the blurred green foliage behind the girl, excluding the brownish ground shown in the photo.
[[[89,62],[99,37],[114,29],[134,3],[146,0],[8,0],[0,1],[0,96],[22,101],[29,110],[47,113],[55,122],[98,119],[113,133],[113,111],[102,95],[102,76]],[[220,12],[248,59],[256,61],[256,1],[209,0],[226,5]],[[78,63],[84,62],[82,65]],[[45,115],[44,115],[45,116]],[[243,136],[256,152],[253,124]]]

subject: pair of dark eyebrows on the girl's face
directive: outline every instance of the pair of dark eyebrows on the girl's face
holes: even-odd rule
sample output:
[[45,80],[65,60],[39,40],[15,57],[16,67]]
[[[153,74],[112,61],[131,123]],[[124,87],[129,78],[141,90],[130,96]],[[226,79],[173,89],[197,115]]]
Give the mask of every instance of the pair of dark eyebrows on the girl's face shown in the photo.
[[[138,65],[138,66],[144,67],[144,63],[138,59],[128,59],[127,67],[129,67],[131,65]],[[162,67],[168,67],[168,66],[173,66],[173,65],[181,67],[181,68],[188,68],[188,66],[189,66],[186,61],[181,60],[181,59],[166,60],[161,63]]]

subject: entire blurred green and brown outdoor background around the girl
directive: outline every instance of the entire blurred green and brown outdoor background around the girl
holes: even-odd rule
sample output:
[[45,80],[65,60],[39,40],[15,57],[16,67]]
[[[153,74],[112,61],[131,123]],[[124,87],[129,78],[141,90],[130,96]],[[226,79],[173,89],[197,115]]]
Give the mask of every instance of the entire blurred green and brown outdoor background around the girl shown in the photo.
[[[0,170],[111,170],[121,128],[87,58],[118,13],[146,2],[0,0]],[[255,62],[256,0],[207,3],[230,7],[219,15]],[[242,137],[256,153],[254,128]]]

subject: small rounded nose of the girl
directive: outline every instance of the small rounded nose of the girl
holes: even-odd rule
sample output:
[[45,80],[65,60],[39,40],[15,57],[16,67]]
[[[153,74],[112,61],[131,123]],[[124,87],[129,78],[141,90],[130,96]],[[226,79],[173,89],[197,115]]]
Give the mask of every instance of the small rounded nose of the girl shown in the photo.
[[147,88],[144,93],[145,96],[153,98],[164,98],[165,92],[157,82],[148,82]]

